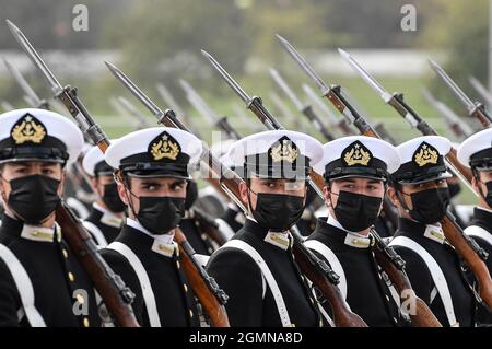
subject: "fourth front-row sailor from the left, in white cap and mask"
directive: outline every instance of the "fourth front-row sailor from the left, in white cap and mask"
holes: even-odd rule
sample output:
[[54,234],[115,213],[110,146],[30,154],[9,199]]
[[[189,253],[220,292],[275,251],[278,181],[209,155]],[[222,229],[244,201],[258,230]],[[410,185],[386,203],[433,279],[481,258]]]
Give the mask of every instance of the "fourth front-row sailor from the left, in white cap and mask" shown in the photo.
[[326,143],[323,161],[315,165],[326,182],[328,217],[318,219],[306,246],[340,276],[342,295],[368,326],[407,325],[372,251],[371,235],[382,211],[388,173],[398,165],[395,147],[364,136]]

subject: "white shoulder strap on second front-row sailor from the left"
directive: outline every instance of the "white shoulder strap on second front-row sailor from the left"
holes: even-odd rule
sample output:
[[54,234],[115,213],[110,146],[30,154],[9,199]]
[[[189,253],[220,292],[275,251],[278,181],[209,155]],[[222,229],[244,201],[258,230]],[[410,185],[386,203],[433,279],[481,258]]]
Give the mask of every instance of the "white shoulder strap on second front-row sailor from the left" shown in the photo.
[[127,258],[130,266],[133,268],[134,272],[140,282],[140,288],[142,289],[143,302],[145,303],[147,314],[149,315],[149,322],[151,327],[161,327],[161,318],[159,317],[157,306],[155,303],[154,291],[149,280],[149,275],[145,271],[139,257],[128,247],[126,244],[120,242],[112,242],[106,246],[108,249],[116,251],[120,253],[125,258]]

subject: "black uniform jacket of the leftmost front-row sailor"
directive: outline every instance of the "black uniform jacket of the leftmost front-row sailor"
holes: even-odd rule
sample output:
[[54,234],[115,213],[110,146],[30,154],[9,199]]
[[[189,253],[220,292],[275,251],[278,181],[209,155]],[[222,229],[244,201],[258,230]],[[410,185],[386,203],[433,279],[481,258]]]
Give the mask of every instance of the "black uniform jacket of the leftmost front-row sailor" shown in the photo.
[[[34,305],[46,325],[99,326],[93,283],[72,249],[59,240],[63,232],[59,230],[61,235],[54,233],[50,237],[35,229],[26,229],[22,234],[23,229],[22,221],[4,214],[0,243],[9,247],[27,272],[34,289]],[[0,259],[0,326],[30,326],[25,316],[21,321],[17,318],[21,307],[12,275]],[[73,309],[78,310],[78,315]]]

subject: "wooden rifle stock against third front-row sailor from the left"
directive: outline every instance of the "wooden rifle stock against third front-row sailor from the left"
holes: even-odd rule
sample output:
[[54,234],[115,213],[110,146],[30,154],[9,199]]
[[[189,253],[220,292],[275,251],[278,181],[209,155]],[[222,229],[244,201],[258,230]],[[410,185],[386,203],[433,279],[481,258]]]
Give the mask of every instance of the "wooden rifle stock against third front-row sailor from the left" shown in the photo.
[[339,288],[328,280],[325,274],[313,267],[313,258],[316,256],[314,256],[314,254],[307,249],[302,242],[298,242],[295,239],[292,252],[304,275],[318,288],[319,291],[323,292],[330,303],[336,326],[367,327],[367,324],[349,309],[347,302],[340,293]]

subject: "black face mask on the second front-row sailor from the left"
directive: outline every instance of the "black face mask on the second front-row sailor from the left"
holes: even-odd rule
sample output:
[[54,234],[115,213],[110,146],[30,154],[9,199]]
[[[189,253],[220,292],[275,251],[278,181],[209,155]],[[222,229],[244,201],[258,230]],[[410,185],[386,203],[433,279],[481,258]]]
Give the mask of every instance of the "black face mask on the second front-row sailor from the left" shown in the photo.
[[139,222],[152,234],[166,234],[185,216],[185,198],[141,196]]

